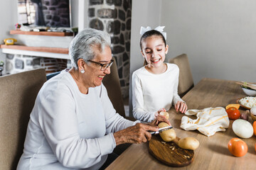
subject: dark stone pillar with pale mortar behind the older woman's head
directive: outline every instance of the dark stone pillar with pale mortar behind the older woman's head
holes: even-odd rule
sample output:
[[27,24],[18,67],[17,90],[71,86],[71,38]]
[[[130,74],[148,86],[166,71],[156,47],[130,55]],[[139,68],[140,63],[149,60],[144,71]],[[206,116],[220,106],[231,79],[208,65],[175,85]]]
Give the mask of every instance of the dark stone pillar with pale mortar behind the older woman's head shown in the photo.
[[89,26],[104,30],[112,39],[112,55],[117,60],[123,97],[129,96],[129,57],[132,0],[90,0]]

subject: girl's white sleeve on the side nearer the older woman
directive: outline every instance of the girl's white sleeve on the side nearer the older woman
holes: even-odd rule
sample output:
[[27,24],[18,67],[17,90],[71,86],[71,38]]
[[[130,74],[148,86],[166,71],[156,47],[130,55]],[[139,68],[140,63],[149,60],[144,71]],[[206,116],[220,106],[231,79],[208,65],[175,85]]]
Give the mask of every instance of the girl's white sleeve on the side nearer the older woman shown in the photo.
[[151,122],[155,119],[155,112],[145,111],[142,88],[142,83],[137,74],[132,74],[132,113],[137,120]]

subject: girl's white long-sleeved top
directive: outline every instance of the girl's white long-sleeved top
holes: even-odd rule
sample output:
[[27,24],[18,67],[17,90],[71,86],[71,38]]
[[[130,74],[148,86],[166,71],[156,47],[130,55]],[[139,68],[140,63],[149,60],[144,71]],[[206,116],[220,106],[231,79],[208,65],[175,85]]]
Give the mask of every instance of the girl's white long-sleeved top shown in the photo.
[[178,96],[178,66],[166,65],[162,74],[152,74],[145,67],[132,74],[132,113],[137,120],[151,122],[160,108],[169,111],[172,104],[183,101]]

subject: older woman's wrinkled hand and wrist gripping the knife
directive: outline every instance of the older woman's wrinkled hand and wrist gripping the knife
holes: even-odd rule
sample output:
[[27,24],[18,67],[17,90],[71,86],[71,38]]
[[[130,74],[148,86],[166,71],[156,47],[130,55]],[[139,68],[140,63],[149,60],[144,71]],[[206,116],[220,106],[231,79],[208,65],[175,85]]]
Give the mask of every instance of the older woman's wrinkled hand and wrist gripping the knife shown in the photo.
[[148,131],[157,131],[157,126],[151,126],[149,124],[137,123],[134,126],[130,126],[124,130],[114,132],[114,140],[116,145],[123,143],[142,143],[151,140],[151,134]]

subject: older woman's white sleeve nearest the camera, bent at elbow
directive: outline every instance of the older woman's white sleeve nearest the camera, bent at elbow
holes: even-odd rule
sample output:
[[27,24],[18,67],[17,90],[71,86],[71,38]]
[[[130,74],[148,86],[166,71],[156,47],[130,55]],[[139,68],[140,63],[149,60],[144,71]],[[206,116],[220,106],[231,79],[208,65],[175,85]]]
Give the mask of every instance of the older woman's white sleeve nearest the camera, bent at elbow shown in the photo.
[[39,125],[58,158],[70,168],[87,168],[100,162],[101,157],[110,154],[115,145],[112,134],[94,139],[80,138],[75,113],[75,101],[68,89],[56,90],[42,96],[38,103]]

